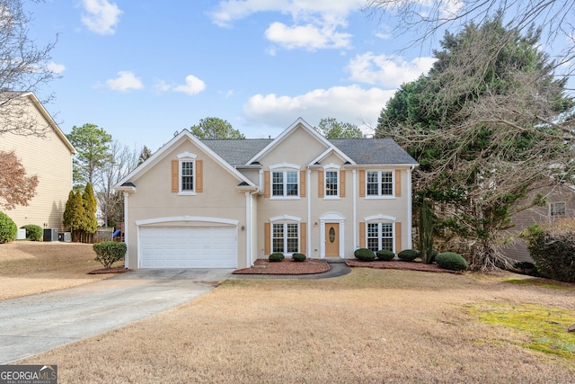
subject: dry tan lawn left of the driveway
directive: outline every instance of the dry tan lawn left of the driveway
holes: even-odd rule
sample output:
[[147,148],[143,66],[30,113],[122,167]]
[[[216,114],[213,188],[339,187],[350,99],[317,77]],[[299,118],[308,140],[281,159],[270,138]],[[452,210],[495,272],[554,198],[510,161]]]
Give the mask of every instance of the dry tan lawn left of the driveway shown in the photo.
[[[0,244],[0,299],[33,295],[100,281],[111,274],[87,274],[102,268],[92,245],[17,241]],[[123,262],[121,262],[123,263]]]

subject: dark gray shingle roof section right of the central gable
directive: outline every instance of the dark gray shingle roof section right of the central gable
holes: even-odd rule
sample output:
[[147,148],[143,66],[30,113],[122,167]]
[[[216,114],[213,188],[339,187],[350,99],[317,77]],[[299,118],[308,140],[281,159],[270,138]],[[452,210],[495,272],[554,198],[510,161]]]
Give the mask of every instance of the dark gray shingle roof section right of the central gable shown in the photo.
[[393,138],[330,138],[334,147],[358,165],[417,165]]

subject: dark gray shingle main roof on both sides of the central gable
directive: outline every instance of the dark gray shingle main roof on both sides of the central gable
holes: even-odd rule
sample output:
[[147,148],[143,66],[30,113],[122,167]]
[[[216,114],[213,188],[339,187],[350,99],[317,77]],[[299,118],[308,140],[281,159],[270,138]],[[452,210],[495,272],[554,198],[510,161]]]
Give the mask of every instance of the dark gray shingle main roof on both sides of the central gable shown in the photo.
[[[246,165],[272,141],[272,138],[201,140],[234,166]],[[392,138],[330,138],[329,141],[358,165],[417,164]]]

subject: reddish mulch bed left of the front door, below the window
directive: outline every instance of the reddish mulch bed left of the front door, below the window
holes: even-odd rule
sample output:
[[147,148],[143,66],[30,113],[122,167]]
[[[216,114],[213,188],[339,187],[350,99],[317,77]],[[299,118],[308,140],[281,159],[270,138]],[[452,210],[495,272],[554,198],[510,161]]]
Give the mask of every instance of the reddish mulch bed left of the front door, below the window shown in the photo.
[[258,259],[250,268],[235,270],[234,274],[314,274],[330,270],[330,265],[325,260],[305,259],[303,262],[295,262],[285,258],[281,262],[270,263],[267,259]]

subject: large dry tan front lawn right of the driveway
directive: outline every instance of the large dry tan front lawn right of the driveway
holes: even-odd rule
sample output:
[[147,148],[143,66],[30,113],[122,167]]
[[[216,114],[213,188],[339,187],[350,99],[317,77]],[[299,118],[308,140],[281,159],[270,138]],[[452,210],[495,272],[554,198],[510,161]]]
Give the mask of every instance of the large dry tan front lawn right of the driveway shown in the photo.
[[228,280],[19,363],[57,364],[60,383],[575,382],[575,354],[527,349],[526,332],[466,309],[537,304],[575,323],[573,287],[508,277],[357,268],[325,280]]

